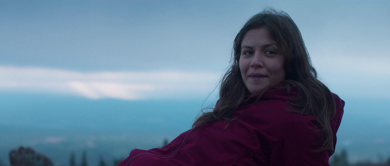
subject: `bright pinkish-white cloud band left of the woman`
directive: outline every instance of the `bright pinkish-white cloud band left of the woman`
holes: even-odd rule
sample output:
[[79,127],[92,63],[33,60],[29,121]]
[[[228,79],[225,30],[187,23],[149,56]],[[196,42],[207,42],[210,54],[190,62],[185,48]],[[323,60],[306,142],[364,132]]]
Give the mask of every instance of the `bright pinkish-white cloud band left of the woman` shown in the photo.
[[0,66],[0,90],[71,94],[90,99],[207,96],[222,73],[188,71],[79,72]]

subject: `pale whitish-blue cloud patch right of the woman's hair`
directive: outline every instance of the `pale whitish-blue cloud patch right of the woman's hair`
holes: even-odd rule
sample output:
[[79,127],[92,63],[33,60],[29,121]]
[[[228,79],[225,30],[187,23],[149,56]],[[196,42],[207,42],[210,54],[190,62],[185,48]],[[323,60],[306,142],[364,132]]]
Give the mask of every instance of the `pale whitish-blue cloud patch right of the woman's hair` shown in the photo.
[[319,76],[335,93],[390,98],[390,59],[362,56],[314,56]]

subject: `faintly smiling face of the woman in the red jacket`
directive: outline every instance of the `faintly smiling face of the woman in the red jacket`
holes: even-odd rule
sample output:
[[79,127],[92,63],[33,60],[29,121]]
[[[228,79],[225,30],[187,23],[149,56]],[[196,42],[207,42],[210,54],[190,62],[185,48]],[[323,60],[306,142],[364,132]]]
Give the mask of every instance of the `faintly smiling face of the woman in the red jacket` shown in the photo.
[[284,55],[272,41],[266,27],[246,32],[241,43],[239,67],[251,94],[284,80],[283,62]]

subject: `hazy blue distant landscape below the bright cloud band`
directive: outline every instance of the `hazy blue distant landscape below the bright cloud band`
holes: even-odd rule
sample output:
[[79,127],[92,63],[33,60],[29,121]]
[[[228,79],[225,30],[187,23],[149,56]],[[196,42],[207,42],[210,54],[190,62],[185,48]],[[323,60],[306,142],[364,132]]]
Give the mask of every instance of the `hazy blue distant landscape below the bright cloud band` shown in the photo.
[[[12,100],[18,98],[18,101]],[[346,101],[337,133],[336,154],[342,149],[355,162],[379,162],[390,157],[390,104],[388,100]],[[127,157],[134,148],[158,148],[190,129],[203,100],[89,100],[50,95],[0,96],[0,157],[9,165],[8,153],[30,146],[46,154],[56,166],[69,165],[72,151],[80,162],[87,151],[90,166],[100,157],[108,164]],[[376,114],[370,114],[376,107]],[[28,109],[30,108],[30,109]]]

